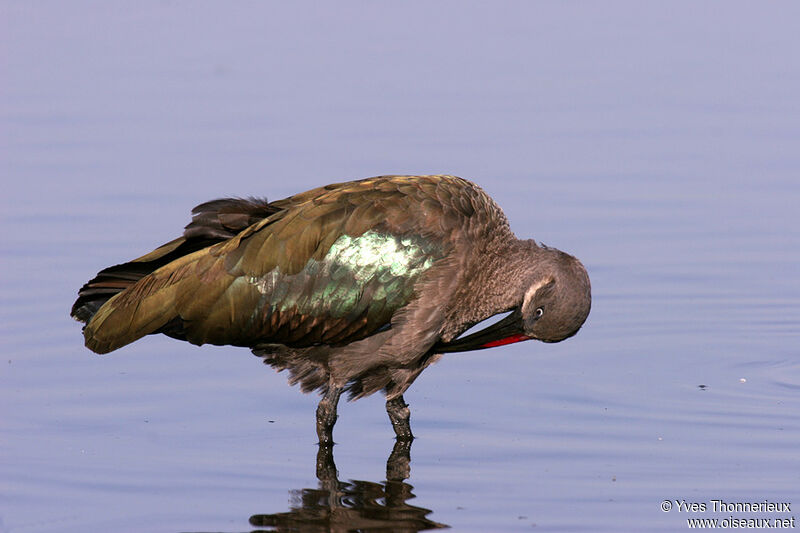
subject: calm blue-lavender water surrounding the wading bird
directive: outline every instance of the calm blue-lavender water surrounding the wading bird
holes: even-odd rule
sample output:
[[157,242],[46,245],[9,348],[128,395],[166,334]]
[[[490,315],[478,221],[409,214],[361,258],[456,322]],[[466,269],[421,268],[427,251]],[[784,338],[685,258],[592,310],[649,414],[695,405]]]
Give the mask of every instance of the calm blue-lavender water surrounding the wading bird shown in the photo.
[[[796,516],[799,11],[4,2],[0,531]],[[318,472],[317,398],[247,350],[151,337],[100,357],[68,317],[202,201],[438,172],[581,258],[593,309],[561,344],[426,370],[388,475],[377,396],[341,406]]]

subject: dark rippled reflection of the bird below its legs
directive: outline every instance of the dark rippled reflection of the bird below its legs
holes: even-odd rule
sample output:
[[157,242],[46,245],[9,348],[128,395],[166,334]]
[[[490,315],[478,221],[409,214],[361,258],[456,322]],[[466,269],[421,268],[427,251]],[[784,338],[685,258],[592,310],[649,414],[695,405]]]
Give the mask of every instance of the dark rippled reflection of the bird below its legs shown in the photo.
[[428,520],[432,511],[406,503],[414,498],[405,482],[411,467],[411,442],[397,441],[386,462],[386,481],[339,481],[333,447],[317,452],[319,488],[292,491],[288,512],[250,517],[256,531],[302,533],[346,531],[415,532],[447,528]]

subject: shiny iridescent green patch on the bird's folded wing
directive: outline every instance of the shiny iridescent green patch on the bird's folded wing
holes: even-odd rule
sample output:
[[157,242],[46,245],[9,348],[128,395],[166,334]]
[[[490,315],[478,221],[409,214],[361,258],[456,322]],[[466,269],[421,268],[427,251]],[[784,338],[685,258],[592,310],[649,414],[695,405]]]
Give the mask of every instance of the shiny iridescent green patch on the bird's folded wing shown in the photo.
[[439,252],[416,235],[342,235],[321,260],[309,259],[297,274],[276,268],[248,279],[261,294],[253,325],[289,344],[366,337],[412,299],[414,285]]

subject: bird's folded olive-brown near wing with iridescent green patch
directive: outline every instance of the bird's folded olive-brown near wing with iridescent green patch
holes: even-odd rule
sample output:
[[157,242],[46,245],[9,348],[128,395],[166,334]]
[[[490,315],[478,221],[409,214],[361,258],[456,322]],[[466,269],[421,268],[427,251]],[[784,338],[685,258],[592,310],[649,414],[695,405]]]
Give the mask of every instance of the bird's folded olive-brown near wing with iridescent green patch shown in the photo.
[[105,353],[163,328],[195,344],[365,338],[415,298],[481,195],[458,178],[393,176],[272,202],[274,213],[236,236],[111,298],[87,324],[86,344]]

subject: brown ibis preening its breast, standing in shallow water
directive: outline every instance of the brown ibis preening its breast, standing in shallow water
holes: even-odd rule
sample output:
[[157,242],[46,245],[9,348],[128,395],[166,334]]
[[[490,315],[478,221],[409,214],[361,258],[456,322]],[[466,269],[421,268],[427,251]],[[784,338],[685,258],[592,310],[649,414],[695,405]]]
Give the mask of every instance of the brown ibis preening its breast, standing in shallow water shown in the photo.
[[[572,255],[518,239],[495,201],[450,175],[387,175],[277,201],[198,205],[183,234],[101,270],[71,316],[105,354],[149,334],[250,348],[337,405],[381,391],[396,439],[414,438],[403,394],[444,354],[575,335],[591,308]],[[462,335],[490,317],[501,320]]]

